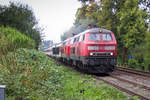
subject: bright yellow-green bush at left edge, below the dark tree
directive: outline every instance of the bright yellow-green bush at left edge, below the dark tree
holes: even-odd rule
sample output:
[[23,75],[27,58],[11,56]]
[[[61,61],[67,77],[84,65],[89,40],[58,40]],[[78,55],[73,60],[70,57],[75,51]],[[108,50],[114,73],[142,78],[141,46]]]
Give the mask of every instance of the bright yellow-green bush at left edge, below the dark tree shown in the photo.
[[35,48],[35,42],[16,29],[0,27],[0,55],[18,48]]

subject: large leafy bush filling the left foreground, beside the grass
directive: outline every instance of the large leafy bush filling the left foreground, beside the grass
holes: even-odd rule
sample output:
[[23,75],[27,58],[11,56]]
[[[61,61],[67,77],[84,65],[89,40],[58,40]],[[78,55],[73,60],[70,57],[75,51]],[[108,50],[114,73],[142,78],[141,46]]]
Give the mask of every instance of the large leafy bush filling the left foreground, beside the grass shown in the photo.
[[18,49],[3,56],[0,73],[8,100],[47,100],[61,88],[60,68],[36,50]]

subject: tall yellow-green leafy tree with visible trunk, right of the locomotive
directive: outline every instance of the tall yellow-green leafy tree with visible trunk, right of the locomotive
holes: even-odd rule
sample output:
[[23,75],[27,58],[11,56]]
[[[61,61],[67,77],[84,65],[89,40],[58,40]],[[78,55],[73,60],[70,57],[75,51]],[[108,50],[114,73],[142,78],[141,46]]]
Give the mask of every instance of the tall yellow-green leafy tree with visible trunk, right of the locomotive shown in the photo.
[[138,0],[126,0],[117,15],[120,18],[117,29],[123,48],[122,57],[127,62],[128,49],[139,45],[145,38],[147,13],[139,9]]

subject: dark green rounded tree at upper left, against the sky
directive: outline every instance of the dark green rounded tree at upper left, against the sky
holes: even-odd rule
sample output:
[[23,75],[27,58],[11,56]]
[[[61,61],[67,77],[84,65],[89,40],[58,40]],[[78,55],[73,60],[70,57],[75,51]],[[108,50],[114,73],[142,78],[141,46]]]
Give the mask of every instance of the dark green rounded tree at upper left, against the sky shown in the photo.
[[41,42],[41,29],[32,9],[28,5],[11,2],[8,6],[0,5],[0,26],[9,26],[32,38],[38,47]]

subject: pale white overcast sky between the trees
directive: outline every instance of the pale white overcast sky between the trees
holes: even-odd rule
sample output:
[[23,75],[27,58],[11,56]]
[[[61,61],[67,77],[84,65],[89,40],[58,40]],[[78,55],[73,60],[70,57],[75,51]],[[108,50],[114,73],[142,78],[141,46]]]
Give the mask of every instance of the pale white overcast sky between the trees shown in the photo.
[[45,39],[60,41],[60,35],[74,23],[78,0],[0,0],[0,4],[7,5],[9,1],[19,1],[33,8],[39,25],[44,28]]

